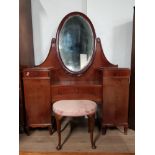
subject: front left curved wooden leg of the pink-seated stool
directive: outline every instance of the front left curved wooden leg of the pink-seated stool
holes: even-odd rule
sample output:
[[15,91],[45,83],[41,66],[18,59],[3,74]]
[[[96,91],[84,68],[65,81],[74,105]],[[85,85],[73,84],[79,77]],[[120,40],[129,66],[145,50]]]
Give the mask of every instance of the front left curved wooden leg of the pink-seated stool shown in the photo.
[[57,124],[57,133],[58,133],[58,145],[57,150],[61,149],[61,118],[62,116],[55,114],[56,124]]

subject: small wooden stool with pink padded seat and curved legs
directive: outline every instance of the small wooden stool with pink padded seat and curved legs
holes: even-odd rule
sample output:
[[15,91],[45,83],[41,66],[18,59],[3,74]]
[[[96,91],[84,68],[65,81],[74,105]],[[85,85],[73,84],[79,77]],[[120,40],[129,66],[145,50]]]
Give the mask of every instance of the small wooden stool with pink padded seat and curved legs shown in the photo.
[[93,142],[96,107],[96,103],[90,100],[60,100],[53,104],[58,133],[57,150],[61,149],[61,119],[63,116],[78,117],[87,115],[92,149],[96,148]]

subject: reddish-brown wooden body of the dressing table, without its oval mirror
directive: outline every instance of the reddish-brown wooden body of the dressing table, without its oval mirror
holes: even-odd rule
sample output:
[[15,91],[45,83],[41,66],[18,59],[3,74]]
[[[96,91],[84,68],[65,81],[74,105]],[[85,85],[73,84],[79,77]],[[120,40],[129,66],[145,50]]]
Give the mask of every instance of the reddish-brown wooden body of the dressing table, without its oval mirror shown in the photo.
[[95,38],[91,64],[84,72],[72,74],[62,65],[56,40],[52,39],[49,54],[42,64],[23,70],[27,127],[49,127],[55,101],[89,99],[102,105],[103,131],[105,126],[123,125],[126,132],[130,70],[111,64],[104,55],[100,39]]

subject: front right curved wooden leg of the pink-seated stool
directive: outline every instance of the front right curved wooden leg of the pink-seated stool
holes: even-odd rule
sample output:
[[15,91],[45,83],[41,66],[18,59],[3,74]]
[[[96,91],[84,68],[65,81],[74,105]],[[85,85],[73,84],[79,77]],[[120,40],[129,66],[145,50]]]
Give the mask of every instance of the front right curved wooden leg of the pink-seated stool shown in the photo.
[[95,124],[95,114],[88,115],[88,121],[89,121],[89,129],[90,129],[90,140],[92,149],[96,149],[95,143],[93,141],[93,131],[94,131],[94,124]]

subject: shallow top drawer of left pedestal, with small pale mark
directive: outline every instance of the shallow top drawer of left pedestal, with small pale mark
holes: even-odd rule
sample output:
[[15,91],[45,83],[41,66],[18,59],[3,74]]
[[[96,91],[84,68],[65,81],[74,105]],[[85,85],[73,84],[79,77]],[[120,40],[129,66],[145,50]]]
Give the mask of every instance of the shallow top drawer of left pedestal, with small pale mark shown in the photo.
[[50,71],[48,70],[26,70],[23,71],[23,77],[29,78],[29,77],[50,77]]

